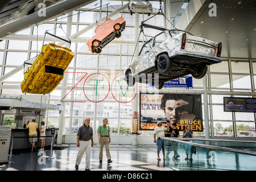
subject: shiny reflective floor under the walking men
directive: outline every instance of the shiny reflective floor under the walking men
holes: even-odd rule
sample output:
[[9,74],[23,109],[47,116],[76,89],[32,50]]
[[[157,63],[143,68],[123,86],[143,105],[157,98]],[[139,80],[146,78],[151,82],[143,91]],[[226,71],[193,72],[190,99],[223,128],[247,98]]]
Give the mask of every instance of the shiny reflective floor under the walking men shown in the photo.
[[[0,171],[75,171],[77,155],[76,145],[62,145],[62,150],[45,150],[44,152],[16,152],[11,158],[13,163],[0,163]],[[164,164],[163,154],[157,160],[156,146],[131,146],[110,144],[113,162],[108,164],[105,147],[103,162],[98,160],[99,146],[92,148],[90,158],[91,171],[172,171]],[[53,159],[51,159],[53,158]],[[85,155],[79,171],[85,169]]]

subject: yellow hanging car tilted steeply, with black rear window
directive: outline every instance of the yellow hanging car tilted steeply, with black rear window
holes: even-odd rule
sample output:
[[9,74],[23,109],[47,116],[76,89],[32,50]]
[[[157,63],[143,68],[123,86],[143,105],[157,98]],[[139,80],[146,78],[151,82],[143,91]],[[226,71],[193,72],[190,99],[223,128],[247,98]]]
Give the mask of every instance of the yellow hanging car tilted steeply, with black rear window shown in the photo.
[[49,43],[42,47],[42,53],[24,74],[20,84],[23,93],[51,93],[64,77],[64,71],[71,63],[72,50]]

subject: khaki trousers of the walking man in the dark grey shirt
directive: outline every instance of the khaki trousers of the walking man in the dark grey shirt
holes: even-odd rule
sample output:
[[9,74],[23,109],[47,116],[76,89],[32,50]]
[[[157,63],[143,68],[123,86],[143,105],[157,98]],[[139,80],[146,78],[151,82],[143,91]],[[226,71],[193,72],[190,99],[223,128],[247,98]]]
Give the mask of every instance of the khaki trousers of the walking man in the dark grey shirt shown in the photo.
[[79,141],[80,146],[79,146],[79,152],[77,153],[77,157],[76,157],[76,165],[79,166],[81,160],[82,160],[82,156],[84,155],[85,152],[85,169],[89,169],[90,168],[90,149],[92,148],[92,141],[88,140],[88,141]]

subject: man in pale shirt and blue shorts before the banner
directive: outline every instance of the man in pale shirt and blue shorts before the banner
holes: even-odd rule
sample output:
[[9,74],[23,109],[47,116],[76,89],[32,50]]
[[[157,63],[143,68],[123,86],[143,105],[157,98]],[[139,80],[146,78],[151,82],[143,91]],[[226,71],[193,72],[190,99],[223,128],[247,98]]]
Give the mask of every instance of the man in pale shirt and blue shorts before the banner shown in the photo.
[[[154,130],[154,142],[156,143],[156,146],[157,146],[158,160],[161,160],[159,157],[161,148],[163,151],[163,159],[164,159],[164,131],[167,131],[168,127],[169,126],[163,127],[162,122],[158,121],[158,126],[155,127],[155,130]],[[156,137],[157,137],[157,140],[156,140]]]

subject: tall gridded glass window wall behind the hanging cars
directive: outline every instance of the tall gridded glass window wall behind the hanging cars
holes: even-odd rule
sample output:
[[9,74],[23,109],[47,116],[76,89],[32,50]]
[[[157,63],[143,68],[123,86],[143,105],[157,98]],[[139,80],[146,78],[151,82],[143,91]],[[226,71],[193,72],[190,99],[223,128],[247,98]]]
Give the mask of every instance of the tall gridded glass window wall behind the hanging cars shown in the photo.
[[[79,10],[73,11],[72,34],[88,27],[98,19],[105,17],[114,10],[128,3],[128,1],[96,1]],[[139,14],[139,22],[146,20],[158,13],[159,1],[151,1],[154,7],[153,13]],[[162,6],[164,3],[162,3]],[[164,7],[163,7],[164,10]],[[129,64],[134,54],[135,47],[135,15],[123,11],[112,17],[116,19],[120,15],[126,20],[126,29],[118,40],[129,40],[123,43],[110,43],[101,54],[92,54],[88,51],[86,42],[71,44],[72,52],[75,54],[71,64],[66,70],[67,73],[67,95],[61,98],[61,90],[53,90],[47,95],[49,104],[60,104],[65,101],[64,114],[64,135],[75,135],[78,127],[84,122],[85,117],[91,118],[91,123],[96,132],[102,119],[108,118],[112,135],[130,134],[132,123],[133,103],[122,104],[115,100],[121,96],[120,92],[109,94],[102,102],[93,102],[95,89],[83,90],[83,85],[94,85],[93,78],[86,81],[86,78],[93,75],[105,76],[112,84],[115,77],[123,72],[123,67]],[[67,15],[60,16],[47,23],[20,31],[16,35],[44,36],[46,30],[58,36],[65,36],[59,28],[67,28]],[[166,27],[167,20],[162,15],[151,18],[147,24]],[[156,30],[144,29],[144,35],[140,36],[138,46],[141,48],[151,36],[158,34]],[[79,38],[92,38],[94,28],[80,35]],[[2,40],[0,42],[0,74],[9,73],[22,65],[24,61],[38,55],[43,42],[32,40]],[[46,44],[46,42],[45,42]],[[255,114],[254,113],[227,113],[223,111],[223,97],[231,95],[221,94],[222,91],[240,92],[241,96],[249,97],[247,93],[255,92],[256,60],[232,60],[226,59],[220,64],[208,67],[207,82],[208,90],[217,94],[209,94],[208,108],[210,121],[210,136],[212,137],[256,137],[255,136]],[[19,85],[23,80],[23,70],[4,80],[1,85],[0,94],[8,96],[22,95]],[[62,82],[60,83],[60,85]],[[76,85],[76,86],[75,86]],[[108,83],[102,86],[108,86]],[[4,86],[13,86],[5,88]],[[16,87],[15,87],[16,86]],[[203,90],[203,79],[193,79],[193,89]],[[219,93],[218,93],[219,92]],[[242,94],[245,93],[245,94]],[[127,100],[133,96],[127,94]],[[251,96],[250,96],[251,97]],[[203,96],[202,96],[203,98]],[[89,101],[91,100],[91,101]],[[48,111],[46,115],[48,125],[58,127],[59,111]],[[142,135],[152,135],[153,131],[143,131]],[[205,135],[204,132],[195,135]]]

